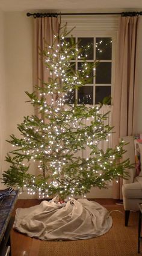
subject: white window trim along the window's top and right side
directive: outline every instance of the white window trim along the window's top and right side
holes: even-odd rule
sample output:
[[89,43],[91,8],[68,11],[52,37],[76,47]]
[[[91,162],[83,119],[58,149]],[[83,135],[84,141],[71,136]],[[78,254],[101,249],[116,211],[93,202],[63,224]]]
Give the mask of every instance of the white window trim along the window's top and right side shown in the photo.
[[[59,20],[60,21],[60,20]],[[110,119],[113,110],[114,83],[116,71],[116,45],[119,28],[119,15],[98,15],[98,16],[61,16],[61,26],[67,23],[67,30],[72,30],[71,34],[76,37],[110,37],[112,38],[112,70],[111,70],[111,106]],[[105,60],[106,61],[106,60]],[[100,84],[99,84],[100,85]],[[104,84],[103,84],[104,85]],[[108,84],[106,84],[107,86]],[[96,86],[96,84],[95,84]],[[93,97],[95,97],[93,95]],[[111,125],[111,123],[110,123]],[[111,142],[112,143],[112,142]],[[113,186],[108,182],[108,188]]]

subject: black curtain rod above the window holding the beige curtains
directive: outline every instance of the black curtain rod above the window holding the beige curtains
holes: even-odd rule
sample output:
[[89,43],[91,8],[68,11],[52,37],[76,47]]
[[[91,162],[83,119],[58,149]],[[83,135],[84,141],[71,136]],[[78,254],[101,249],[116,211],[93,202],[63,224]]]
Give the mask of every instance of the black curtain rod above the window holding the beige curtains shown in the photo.
[[34,18],[57,17],[63,15],[122,15],[122,16],[139,16],[142,11],[128,11],[122,13],[26,13],[26,16],[34,16]]

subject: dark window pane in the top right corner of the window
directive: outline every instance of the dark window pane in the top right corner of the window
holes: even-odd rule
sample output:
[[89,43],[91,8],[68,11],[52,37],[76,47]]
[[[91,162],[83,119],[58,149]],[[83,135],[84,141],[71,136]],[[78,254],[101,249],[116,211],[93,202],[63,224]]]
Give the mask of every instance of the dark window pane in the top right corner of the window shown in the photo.
[[96,59],[111,59],[112,38],[96,38]]

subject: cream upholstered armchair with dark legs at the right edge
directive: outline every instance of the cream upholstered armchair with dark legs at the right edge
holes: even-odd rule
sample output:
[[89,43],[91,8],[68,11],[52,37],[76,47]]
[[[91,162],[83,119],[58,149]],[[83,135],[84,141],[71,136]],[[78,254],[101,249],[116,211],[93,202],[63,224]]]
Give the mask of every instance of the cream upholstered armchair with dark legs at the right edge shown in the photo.
[[[134,136],[126,136],[122,139],[129,143],[124,147],[126,149],[126,153],[123,155],[122,160],[129,158],[131,163],[135,163]],[[142,143],[138,143],[138,146],[142,154]],[[125,209],[125,226],[128,226],[130,211],[138,211],[140,209],[139,203],[142,203],[142,168],[139,175],[137,175],[135,168],[128,169],[128,172],[129,177],[127,180],[123,180],[122,186],[123,205]]]

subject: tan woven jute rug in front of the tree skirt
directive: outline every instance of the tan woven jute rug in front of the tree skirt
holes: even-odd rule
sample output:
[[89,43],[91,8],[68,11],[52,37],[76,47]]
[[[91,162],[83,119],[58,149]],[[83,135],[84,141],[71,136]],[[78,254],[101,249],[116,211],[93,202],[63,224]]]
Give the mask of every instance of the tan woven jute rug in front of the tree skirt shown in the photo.
[[[108,208],[113,209],[116,206]],[[138,212],[131,212],[128,227],[124,212],[113,211],[111,216],[113,226],[106,234],[88,240],[40,241],[38,256],[138,256]]]

